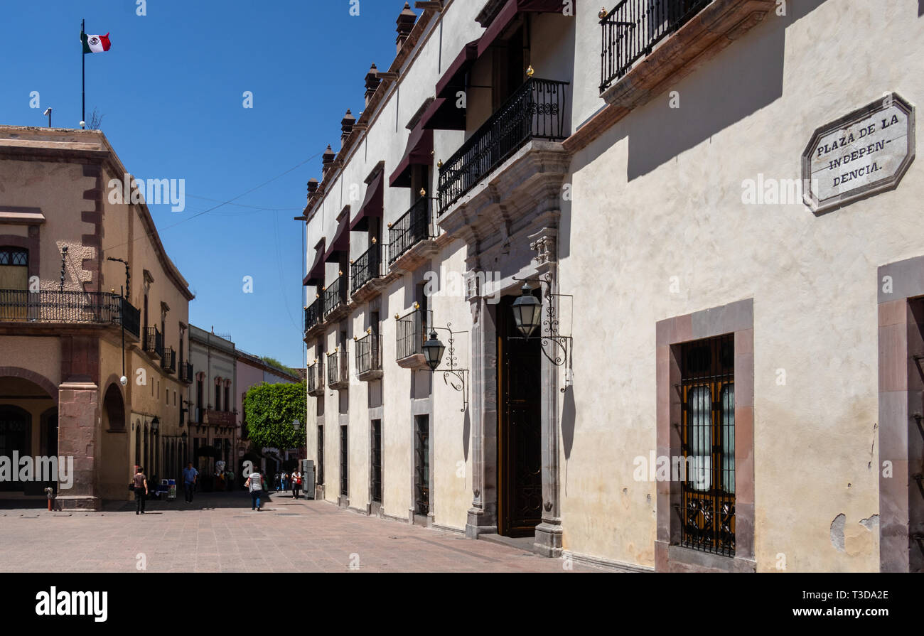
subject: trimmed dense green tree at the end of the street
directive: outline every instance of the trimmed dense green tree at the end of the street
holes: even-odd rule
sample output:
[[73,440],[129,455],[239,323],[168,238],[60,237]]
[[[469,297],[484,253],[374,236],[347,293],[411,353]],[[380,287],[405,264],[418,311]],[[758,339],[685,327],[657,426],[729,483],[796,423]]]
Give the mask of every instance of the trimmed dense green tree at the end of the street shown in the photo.
[[[244,402],[250,441],[254,446],[284,450],[305,445],[308,400],[305,383],[263,383],[250,387]],[[301,422],[296,429],[292,422]]]

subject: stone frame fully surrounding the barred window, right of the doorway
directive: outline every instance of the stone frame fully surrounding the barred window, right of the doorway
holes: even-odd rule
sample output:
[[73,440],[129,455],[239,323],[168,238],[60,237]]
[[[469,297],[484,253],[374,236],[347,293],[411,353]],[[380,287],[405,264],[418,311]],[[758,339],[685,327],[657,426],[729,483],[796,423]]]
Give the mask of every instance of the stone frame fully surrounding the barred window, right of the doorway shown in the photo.
[[715,336],[735,336],[735,543],[734,557],[723,557],[683,547],[680,519],[680,483],[658,482],[656,571],[757,570],[754,557],[754,300],[738,300],[700,312],[667,318],[655,325],[657,364],[658,457],[679,457],[680,346]]

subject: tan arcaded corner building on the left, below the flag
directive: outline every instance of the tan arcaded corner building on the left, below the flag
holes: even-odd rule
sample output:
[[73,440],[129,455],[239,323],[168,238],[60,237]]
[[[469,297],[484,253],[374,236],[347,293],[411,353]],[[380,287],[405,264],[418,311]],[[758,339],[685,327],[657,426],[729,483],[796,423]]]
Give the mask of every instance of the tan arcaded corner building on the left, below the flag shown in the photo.
[[99,131],[0,127],[0,457],[72,458],[62,509],[127,499],[135,465],[178,477],[186,457],[193,295],[146,204],[109,196],[131,180]]

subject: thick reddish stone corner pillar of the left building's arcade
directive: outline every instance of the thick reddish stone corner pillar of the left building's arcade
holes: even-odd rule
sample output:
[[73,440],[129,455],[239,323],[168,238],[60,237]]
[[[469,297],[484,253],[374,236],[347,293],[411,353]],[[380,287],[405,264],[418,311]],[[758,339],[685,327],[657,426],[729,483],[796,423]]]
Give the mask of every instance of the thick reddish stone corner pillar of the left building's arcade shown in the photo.
[[58,486],[61,510],[99,510],[96,459],[100,440],[99,389],[92,383],[66,382],[58,387],[58,456],[74,458],[72,487]]

